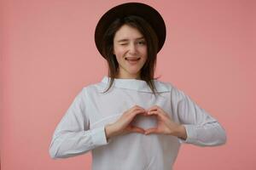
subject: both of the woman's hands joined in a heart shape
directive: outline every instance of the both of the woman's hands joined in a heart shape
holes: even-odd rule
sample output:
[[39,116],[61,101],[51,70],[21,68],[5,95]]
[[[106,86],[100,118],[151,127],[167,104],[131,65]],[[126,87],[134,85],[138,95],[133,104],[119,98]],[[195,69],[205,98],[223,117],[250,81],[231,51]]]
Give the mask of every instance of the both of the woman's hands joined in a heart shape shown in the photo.
[[[132,120],[138,115],[156,116],[157,126],[143,129],[141,127],[135,127],[131,125]],[[187,138],[185,127],[177,124],[177,122],[173,122],[172,118],[168,116],[168,114],[158,105],[154,105],[153,107],[149,108],[148,111],[144,110],[138,105],[135,105],[130,110],[125,111],[125,113],[119,118],[117,122],[108,124],[105,127],[105,131],[107,139],[112,136],[125,133],[143,133],[146,135],[150,133],[160,133],[177,136],[181,139]]]

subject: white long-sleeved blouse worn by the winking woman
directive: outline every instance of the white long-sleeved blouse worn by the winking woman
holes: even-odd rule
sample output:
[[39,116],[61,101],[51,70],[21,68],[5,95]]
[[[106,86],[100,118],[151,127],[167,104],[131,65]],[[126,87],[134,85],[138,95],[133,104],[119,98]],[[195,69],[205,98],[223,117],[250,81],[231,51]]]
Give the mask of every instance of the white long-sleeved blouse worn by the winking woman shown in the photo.
[[[170,170],[182,143],[200,146],[224,144],[226,134],[218,121],[171,83],[154,80],[160,95],[137,79],[110,78],[84,87],[55,129],[49,154],[52,158],[77,156],[91,151],[93,170]],[[134,105],[148,109],[159,105],[174,122],[183,124],[187,139],[166,134],[127,133],[106,139],[104,127]],[[155,127],[154,117],[138,116],[139,127]]]

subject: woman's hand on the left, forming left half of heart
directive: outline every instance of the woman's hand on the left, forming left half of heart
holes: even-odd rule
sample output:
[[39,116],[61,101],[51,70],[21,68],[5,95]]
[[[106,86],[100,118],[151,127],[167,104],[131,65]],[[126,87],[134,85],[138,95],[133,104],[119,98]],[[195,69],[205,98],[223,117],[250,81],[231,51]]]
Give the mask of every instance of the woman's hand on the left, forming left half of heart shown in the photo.
[[131,109],[129,109],[128,111],[125,111],[125,113],[120,116],[120,118],[116,122],[108,124],[105,127],[106,138],[109,139],[113,136],[125,133],[144,133],[145,131],[143,128],[131,125],[134,117],[138,114],[143,114],[144,116],[146,116],[146,110],[138,105],[135,105],[131,107]]

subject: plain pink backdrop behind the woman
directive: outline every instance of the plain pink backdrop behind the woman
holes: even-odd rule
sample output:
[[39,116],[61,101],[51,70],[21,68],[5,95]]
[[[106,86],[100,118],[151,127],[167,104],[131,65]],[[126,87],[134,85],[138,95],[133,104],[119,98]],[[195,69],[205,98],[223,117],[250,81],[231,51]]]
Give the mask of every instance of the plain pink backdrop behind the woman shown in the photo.
[[[79,90],[107,75],[94,30],[124,2],[1,1],[2,170],[90,169],[90,154],[50,159],[49,142]],[[138,2],[166,20],[155,76],[195,99],[228,134],[220,147],[183,144],[174,168],[256,169],[255,1]]]

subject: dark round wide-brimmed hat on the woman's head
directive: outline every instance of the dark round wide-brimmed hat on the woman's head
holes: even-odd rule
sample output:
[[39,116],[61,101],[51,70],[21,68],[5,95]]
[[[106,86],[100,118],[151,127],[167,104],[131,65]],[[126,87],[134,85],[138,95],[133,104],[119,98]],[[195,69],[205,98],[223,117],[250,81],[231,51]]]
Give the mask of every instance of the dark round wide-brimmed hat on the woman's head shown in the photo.
[[157,51],[159,52],[166,40],[166,25],[159,12],[144,3],[123,3],[110,8],[102,15],[102,18],[96,26],[95,42],[96,48],[100,54],[102,54],[102,37],[104,36],[105,31],[107,31],[108,26],[110,26],[117,18],[122,18],[128,15],[140,16],[152,26],[159,40]]

